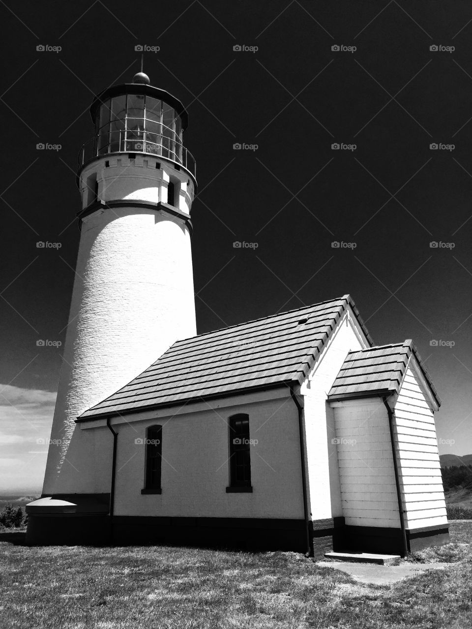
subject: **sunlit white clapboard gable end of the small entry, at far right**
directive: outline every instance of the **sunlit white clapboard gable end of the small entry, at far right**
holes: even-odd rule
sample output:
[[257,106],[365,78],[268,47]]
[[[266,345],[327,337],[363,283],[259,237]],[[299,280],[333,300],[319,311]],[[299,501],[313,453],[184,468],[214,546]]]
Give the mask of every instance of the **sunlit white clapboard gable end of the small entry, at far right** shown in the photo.
[[434,415],[410,367],[395,404],[394,432],[405,526],[414,529],[446,524]]

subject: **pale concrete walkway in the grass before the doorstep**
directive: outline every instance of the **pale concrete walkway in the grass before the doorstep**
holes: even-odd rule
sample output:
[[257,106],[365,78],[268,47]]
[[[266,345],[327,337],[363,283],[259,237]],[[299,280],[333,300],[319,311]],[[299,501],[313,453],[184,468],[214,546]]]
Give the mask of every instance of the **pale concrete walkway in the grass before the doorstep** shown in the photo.
[[385,586],[405,579],[405,577],[414,577],[426,570],[444,569],[446,566],[453,564],[439,562],[434,564],[408,564],[405,562],[402,565],[376,565],[357,564],[347,561],[318,561],[317,565],[346,572],[359,583]]

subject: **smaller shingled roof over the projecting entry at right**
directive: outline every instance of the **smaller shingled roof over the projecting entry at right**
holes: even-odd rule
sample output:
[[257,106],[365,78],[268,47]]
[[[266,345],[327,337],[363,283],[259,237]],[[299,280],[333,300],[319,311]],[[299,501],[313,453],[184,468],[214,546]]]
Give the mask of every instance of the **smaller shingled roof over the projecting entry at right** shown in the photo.
[[328,393],[328,399],[398,393],[412,355],[417,360],[438,406],[441,406],[441,399],[412,340],[349,352]]

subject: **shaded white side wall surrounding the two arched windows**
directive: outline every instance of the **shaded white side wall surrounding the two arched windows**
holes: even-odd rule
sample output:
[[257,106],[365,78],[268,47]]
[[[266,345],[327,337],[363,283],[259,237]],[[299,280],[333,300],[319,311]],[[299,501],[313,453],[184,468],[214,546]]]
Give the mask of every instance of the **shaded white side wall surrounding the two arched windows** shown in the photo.
[[[227,419],[235,413],[248,413],[250,438],[257,440],[250,448],[253,493],[226,493]],[[163,426],[162,494],[146,495],[145,445],[135,440],[156,423]],[[126,422],[115,418],[113,427],[119,433],[115,515],[303,518],[298,412],[286,388],[273,399],[248,393],[196,404],[193,412],[135,413]],[[84,427],[82,433],[96,430]]]

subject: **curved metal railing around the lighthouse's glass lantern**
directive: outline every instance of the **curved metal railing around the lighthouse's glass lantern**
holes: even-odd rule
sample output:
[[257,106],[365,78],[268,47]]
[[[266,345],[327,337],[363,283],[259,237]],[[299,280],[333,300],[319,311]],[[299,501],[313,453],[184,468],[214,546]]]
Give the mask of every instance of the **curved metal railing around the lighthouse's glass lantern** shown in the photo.
[[164,157],[183,166],[195,177],[195,160],[191,152],[175,137],[151,131],[118,130],[94,136],[79,151],[77,171],[88,162],[110,153],[145,153]]

